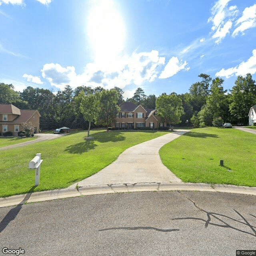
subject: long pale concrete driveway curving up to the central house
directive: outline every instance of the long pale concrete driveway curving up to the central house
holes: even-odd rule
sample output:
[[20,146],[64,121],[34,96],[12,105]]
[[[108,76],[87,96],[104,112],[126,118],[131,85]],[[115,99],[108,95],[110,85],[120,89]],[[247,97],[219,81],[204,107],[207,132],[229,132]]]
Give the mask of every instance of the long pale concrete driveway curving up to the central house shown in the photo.
[[[126,149],[112,164],[78,182],[78,186],[104,184],[135,184],[151,182],[182,182],[160,159],[160,148],[189,130],[177,130]],[[73,184],[70,187],[75,187]]]

